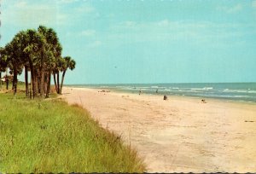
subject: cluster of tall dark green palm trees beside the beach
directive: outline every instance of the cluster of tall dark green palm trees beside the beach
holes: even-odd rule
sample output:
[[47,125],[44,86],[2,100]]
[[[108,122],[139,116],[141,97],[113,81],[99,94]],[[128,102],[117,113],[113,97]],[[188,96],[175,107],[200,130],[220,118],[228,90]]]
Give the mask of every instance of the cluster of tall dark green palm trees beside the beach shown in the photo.
[[[24,69],[26,96],[48,98],[53,75],[55,90],[61,94],[67,69],[73,70],[76,64],[70,56],[62,57],[61,51],[59,38],[52,28],[39,26],[38,30],[18,32],[9,44],[0,48],[0,78],[1,72],[9,68],[9,73],[13,75],[13,90],[16,94],[17,77]],[[31,85],[28,84],[28,73]]]

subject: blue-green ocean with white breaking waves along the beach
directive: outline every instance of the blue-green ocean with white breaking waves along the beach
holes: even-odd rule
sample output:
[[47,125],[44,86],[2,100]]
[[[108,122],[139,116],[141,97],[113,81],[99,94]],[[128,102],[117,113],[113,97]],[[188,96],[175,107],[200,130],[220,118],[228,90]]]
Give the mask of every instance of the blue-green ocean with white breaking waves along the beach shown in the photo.
[[73,84],[73,87],[87,87],[143,93],[161,96],[190,96],[214,98],[237,102],[256,102],[256,83],[195,83],[195,84]]

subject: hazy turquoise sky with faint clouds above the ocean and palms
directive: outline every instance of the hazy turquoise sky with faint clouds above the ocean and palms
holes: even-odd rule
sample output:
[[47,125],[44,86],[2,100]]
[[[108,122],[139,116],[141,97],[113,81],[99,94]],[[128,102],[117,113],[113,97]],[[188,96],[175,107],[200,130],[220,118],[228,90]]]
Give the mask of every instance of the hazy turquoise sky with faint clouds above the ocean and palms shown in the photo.
[[0,15],[1,46],[55,29],[77,62],[66,84],[256,82],[256,1],[1,0]]

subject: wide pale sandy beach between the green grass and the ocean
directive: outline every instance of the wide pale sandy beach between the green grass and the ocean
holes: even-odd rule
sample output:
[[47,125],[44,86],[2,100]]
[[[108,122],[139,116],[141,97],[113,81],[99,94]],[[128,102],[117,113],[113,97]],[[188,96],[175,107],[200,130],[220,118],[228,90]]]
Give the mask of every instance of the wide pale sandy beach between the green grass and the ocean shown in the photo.
[[256,171],[256,105],[64,88],[137,149],[148,172]]

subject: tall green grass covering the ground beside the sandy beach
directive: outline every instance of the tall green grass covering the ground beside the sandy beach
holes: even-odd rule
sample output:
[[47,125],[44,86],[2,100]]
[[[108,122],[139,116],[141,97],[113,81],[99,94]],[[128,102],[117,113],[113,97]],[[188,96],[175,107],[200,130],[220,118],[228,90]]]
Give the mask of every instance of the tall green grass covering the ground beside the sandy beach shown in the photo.
[[143,172],[137,153],[83,108],[0,94],[0,172]]

